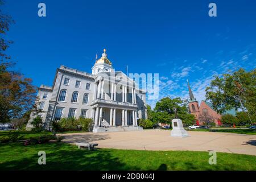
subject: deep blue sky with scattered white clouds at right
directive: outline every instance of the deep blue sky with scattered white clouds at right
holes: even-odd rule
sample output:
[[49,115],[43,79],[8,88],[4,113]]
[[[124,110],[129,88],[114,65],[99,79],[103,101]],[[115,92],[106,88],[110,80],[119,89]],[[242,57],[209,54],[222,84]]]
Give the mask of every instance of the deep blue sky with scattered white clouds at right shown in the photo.
[[[38,16],[44,2],[47,16]],[[217,5],[217,17],[208,5]],[[238,1],[6,1],[13,16],[8,50],[33,84],[52,85],[56,68],[91,73],[106,48],[117,71],[159,73],[159,98],[198,101],[213,75],[256,66],[256,2]]]

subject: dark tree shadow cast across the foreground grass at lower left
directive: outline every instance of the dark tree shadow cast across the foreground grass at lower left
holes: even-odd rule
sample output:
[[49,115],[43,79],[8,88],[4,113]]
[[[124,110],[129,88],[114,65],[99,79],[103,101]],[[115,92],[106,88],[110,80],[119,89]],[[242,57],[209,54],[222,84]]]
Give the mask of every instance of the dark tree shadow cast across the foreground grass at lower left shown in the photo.
[[[15,146],[13,146],[15,147]],[[112,156],[110,151],[96,149],[93,151],[79,150],[75,146],[64,146],[59,143],[36,144],[29,147],[30,151],[24,158],[0,163],[0,170],[140,170],[135,166],[128,166]],[[72,147],[72,148],[71,148]],[[46,165],[38,164],[38,152],[46,151]],[[17,154],[19,155],[19,154]]]

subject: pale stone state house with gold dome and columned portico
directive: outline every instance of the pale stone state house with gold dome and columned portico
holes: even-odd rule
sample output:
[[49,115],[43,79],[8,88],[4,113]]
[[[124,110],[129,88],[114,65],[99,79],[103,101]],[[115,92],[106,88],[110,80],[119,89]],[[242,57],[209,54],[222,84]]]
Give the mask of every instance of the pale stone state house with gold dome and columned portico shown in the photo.
[[[112,67],[106,49],[92,67],[92,74],[57,68],[52,86],[38,88],[38,115],[44,128],[61,118],[92,118],[93,132],[141,130],[138,119],[147,119],[146,92],[134,80]],[[31,113],[27,130],[36,115]]]

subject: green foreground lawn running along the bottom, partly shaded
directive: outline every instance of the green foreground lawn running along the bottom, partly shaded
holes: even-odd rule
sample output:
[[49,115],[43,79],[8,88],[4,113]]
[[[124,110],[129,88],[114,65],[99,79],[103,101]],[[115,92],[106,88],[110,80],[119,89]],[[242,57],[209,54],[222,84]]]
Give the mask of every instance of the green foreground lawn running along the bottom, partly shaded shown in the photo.
[[[38,164],[38,152],[46,152],[46,165]],[[256,170],[256,156],[217,153],[209,165],[208,152],[80,150],[67,143],[23,146],[0,143],[0,170]]]

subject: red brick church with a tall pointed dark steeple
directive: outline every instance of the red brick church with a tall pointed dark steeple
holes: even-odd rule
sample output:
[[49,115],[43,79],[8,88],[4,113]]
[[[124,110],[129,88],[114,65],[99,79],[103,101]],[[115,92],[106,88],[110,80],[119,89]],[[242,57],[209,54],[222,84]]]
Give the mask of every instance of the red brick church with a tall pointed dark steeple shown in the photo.
[[[212,104],[210,102],[201,101],[201,104],[199,106],[199,102],[196,101],[196,98],[193,96],[192,90],[189,86],[189,82],[188,82],[188,91],[189,91],[188,110],[189,110],[189,113],[195,115],[196,124],[207,125],[207,123],[214,122],[216,123],[216,125],[222,125],[221,114],[218,114],[217,111],[213,109]],[[231,110],[228,113],[234,114],[235,111]]]

